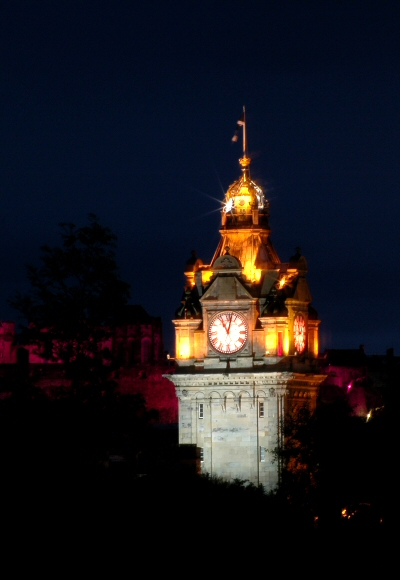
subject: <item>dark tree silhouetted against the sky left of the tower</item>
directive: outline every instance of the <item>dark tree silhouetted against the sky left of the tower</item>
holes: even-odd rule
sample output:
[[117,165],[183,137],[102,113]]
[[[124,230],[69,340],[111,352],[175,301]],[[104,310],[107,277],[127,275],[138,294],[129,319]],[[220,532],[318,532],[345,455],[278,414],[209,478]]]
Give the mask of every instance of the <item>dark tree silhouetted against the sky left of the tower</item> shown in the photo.
[[61,247],[41,248],[41,266],[27,266],[30,291],[9,301],[24,321],[19,341],[64,362],[76,382],[101,383],[112,363],[106,340],[129,297],[115,260],[117,238],[93,214],[87,226],[60,227]]

